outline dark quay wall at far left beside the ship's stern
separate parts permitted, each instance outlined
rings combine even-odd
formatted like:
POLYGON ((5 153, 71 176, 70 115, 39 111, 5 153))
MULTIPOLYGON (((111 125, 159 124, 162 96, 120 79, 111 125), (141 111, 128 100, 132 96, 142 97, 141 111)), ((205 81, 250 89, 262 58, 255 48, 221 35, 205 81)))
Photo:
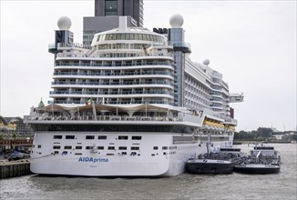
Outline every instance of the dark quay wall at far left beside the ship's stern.
POLYGON ((30 163, 27 160, 0 163, 0 179, 31 174, 30 163))

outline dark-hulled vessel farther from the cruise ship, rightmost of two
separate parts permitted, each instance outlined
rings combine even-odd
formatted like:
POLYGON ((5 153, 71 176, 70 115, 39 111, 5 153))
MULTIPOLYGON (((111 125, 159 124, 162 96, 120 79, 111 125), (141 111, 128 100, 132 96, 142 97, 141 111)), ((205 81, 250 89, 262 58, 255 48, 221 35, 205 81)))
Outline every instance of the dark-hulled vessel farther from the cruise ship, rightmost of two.
POLYGON ((281 169, 281 156, 270 146, 255 146, 250 159, 234 166, 234 172, 245 174, 276 174, 281 169))

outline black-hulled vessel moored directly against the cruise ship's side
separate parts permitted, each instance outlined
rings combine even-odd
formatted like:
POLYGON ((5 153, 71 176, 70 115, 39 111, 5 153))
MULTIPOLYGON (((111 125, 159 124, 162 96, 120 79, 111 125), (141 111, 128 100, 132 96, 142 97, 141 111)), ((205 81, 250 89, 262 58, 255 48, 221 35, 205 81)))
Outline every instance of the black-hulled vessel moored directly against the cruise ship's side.
POLYGON ((210 134, 208 135, 207 155, 199 155, 198 159, 189 159, 187 172, 190 174, 231 174, 233 163, 229 160, 211 159, 210 157, 210 134))

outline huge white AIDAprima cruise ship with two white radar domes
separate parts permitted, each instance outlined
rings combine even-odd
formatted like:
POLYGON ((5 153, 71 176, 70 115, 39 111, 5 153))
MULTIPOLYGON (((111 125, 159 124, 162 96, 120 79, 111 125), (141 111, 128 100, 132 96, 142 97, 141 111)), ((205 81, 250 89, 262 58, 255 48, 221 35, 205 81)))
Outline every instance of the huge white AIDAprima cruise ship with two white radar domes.
POLYGON ((90 46, 73 43, 68 17, 55 55, 50 97, 31 108, 35 130, 31 171, 39 175, 173 176, 189 158, 232 145, 237 121, 222 75, 210 61, 189 59, 183 18, 171 28, 128 27, 97 33, 90 46))

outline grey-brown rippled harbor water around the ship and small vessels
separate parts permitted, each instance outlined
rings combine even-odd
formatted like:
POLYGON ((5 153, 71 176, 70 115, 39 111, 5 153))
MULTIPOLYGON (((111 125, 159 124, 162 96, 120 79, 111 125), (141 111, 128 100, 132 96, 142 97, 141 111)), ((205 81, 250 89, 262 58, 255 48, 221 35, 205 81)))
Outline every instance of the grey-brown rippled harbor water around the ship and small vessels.
MULTIPOLYGON (((270 145, 270 144, 268 144, 270 145)), ((282 156, 273 175, 177 175, 97 178, 25 175, 0 180, 0 199, 292 199, 297 198, 297 145, 271 144, 282 156)), ((249 152, 252 145, 237 145, 249 152)))

